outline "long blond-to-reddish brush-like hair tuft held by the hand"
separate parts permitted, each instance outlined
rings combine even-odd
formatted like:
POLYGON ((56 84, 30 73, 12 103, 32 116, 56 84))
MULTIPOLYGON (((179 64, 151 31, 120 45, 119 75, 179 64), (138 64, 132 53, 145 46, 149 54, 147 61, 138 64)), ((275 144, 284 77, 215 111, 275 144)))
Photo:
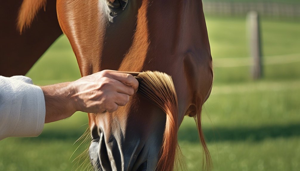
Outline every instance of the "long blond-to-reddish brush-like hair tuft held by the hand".
POLYGON ((173 170, 178 152, 178 102, 172 77, 158 71, 141 72, 138 93, 160 107, 166 114, 166 126, 156 170, 173 170))

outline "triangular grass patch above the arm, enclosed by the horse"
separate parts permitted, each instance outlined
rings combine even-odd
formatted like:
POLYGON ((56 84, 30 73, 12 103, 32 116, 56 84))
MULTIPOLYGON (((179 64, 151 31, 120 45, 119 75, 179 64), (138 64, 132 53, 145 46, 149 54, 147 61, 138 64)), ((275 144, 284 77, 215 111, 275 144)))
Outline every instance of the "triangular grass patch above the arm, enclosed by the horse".
POLYGON ((61 36, 26 76, 32 78, 38 85, 79 79, 79 67, 68 39, 61 36))

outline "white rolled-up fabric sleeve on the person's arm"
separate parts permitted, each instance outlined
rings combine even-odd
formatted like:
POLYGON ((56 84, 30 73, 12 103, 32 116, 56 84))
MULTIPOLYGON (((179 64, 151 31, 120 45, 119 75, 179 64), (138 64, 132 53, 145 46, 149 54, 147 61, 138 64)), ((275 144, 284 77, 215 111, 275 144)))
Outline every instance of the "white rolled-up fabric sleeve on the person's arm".
POLYGON ((0 140, 40 135, 45 114, 44 93, 30 78, 0 76, 0 140))

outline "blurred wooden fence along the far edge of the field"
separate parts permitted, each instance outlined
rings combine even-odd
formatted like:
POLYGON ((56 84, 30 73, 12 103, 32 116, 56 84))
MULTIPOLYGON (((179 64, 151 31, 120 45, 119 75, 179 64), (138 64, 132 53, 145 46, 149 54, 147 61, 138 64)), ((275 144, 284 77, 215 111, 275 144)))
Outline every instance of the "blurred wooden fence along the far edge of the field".
POLYGON ((205 14, 239 16, 249 11, 271 17, 300 17, 300 4, 282 3, 240 3, 240 2, 203 2, 205 14))

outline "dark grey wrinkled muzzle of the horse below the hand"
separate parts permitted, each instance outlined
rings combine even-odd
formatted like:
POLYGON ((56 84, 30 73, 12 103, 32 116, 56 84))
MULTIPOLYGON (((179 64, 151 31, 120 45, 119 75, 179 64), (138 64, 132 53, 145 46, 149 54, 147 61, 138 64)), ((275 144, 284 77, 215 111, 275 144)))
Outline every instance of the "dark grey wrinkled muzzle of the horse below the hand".
POLYGON ((136 141, 131 144, 119 143, 111 136, 105 141, 104 134, 93 140, 89 147, 92 166, 97 171, 146 171, 147 161, 143 144, 136 141))

